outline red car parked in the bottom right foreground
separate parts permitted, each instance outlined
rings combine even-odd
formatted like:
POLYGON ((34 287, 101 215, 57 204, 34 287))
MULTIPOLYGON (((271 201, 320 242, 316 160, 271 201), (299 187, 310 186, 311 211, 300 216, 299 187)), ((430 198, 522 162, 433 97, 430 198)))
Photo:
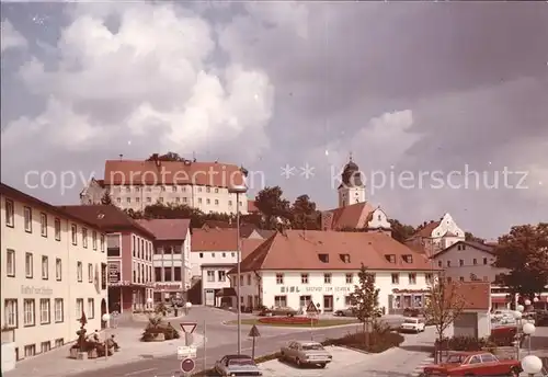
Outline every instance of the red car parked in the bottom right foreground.
POLYGON ((489 352, 450 354, 443 364, 424 367, 424 376, 520 376, 520 361, 500 361, 489 352))

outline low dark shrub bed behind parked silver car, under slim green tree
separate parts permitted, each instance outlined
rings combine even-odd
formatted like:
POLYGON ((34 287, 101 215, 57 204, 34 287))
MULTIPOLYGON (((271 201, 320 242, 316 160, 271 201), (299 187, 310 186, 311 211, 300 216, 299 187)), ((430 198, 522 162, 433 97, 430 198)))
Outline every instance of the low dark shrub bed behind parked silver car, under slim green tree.
POLYGON ((342 345, 363 350, 370 353, 385 352, 388 349, 399 346, 404 338, 383 323, 374 323, 373 331, 368 333, 368 344, 365 343, 366 334, 363 331, 349 333, 343 338, 328 339, 323 345, 342 345))

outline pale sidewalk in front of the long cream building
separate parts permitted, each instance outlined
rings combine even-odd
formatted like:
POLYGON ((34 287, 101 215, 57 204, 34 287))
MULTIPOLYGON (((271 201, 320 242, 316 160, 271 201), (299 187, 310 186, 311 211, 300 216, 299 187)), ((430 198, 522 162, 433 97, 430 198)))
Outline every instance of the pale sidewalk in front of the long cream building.
MULTIPOLYGON (((172 318, 170 318, 172 319, 172 318)), ((44 355, 38 355, 30 359, 21 361, 15 369, 4 373, 4 377, 58 377, 70 376, 88 370, 98 370, 114 365, 128 364, 145 358, 155 358, 176 354, 176 349, 184 345, 184 333, 180 332, 181 338, 165 342, 141 342, 139 338, 144 329, 118 328, 106 331, 106 336, 115 335, 121 351, 114 353, 107 358, 96 358, 89 361, 77 361, 69 358, 69 349, 71 344, 58 350, 50 351, 44 355)), ((204 344, 204 336, 194 333, 194 345, 204 344)), ((101 333, 104 339, 105 332, 101 333)))

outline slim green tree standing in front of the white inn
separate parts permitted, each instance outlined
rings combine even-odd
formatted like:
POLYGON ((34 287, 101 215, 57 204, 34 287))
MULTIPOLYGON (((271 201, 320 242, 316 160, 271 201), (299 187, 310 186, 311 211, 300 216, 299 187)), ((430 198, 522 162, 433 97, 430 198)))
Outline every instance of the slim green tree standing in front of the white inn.
POLYGON ((365 344, 369 346, 368 323, 381 315, 378 304, 380 289, 375 287, 375 274, 367 272, 367 267, 362 263, 357 274, 359 283, 354 287, 351 295, 351 307, 357 319, 364 324, 365 344))

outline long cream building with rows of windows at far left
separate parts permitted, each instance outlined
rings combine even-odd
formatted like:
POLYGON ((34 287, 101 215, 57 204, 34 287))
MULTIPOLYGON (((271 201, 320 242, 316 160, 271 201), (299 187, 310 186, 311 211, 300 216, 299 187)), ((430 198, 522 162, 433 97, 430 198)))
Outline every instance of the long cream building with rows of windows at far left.
POLYGON ((101 329, 105 236, 10 186, 0 190, 2 343, 13 344, 22 359, 76 340, 82 313, 89 331, 101 329))

